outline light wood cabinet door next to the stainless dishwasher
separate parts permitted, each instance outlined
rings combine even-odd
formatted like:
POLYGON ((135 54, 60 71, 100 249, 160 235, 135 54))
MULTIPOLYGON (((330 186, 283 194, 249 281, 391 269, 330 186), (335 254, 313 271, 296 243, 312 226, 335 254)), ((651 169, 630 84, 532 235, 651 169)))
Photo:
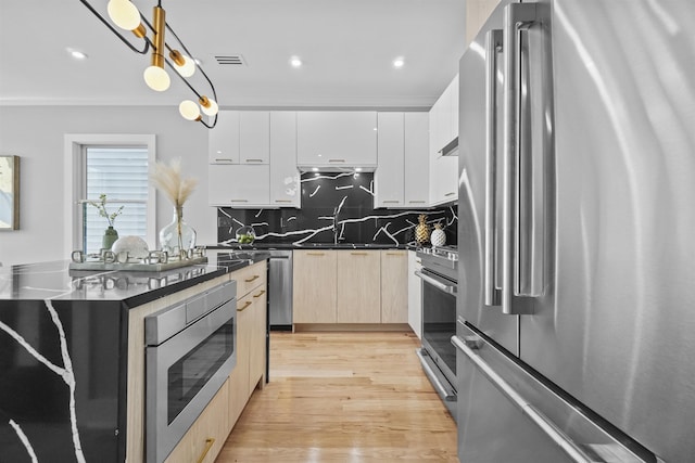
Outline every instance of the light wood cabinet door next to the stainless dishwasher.
POLYGON ((336 252, 299 249, 292 260, 293 322, 336 323, 336 252))

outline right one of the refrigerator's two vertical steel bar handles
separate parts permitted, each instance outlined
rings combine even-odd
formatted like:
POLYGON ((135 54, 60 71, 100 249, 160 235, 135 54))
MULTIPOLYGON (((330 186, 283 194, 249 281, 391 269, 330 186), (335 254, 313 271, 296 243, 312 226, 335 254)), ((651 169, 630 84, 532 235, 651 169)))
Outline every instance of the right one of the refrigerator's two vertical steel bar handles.
POLYGON ((532 304, 513 304, 521 291, 520 198, 520 33, 538 21, 535 3, 510 3, 504 12, 504 154, 502 223, 502 312, 533 313, 532 304))

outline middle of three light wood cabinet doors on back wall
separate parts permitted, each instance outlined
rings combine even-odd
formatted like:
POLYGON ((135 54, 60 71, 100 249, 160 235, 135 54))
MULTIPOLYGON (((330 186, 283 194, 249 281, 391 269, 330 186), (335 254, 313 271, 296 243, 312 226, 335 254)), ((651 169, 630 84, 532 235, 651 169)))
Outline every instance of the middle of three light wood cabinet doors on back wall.
POLYGON ((336 250, 338 323, 381 322, 381 272, 378 250, 336 250))

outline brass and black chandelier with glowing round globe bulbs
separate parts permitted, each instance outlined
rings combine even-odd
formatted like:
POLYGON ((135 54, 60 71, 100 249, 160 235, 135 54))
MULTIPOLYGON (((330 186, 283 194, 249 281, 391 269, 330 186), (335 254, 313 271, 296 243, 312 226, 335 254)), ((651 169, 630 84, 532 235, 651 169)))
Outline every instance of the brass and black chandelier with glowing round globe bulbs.
POLYGON ((218 111, 215 87, 200 64, 192 59, 191 53, 184 42, 181 42, 176 33, 166 23, 166 12, 162 8, 162 0, 157 0, 156 7, 153 8, 152 23, 140 13, 130 0, 109 1, 106 12, 109 13, 111 22, 102 16, 87 0, 79 1, 128 46, 130 50, 139 54, 151 53, 150 66, 147 67, 143 73, 144 82, 148 87, 155 91, 165 91, 169 88, 170 78, 165 69, 166 64, 166 66, 186 83, 193 94, 195 94, 198 101, 182 101, 178 106, 181 116, 188 120, 199 121, 208 129, 215 127, 218 111), (123 34, 112 25, 112 22, 121 29, 130 30, 138 39, 142 40, 141 44, 135 46, 130 40, 126 39, 123 34), (151 38, 148 37, 149 33, 152 35, 151 38), (165 33, 169 34, 176 40, 178 43, 176 47, 170 47, 165 41, 165 33), (207 94, 199 92, 189 81, 189 78, 193 76, 197 70, 210 86, 210 92, 207 94), (206 116, 214 117, 211 124, 203 120, 201 112, 206 116))

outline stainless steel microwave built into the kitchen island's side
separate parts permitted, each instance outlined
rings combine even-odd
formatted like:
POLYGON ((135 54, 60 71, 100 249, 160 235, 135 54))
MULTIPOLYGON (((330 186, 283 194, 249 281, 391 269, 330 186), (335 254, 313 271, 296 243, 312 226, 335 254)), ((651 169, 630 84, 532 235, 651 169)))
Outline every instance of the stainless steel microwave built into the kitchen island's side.
POLYGON ((164 461, 235 368, 236 295, 231 281, 146 318, 148 463, 164 461))

